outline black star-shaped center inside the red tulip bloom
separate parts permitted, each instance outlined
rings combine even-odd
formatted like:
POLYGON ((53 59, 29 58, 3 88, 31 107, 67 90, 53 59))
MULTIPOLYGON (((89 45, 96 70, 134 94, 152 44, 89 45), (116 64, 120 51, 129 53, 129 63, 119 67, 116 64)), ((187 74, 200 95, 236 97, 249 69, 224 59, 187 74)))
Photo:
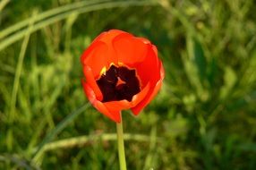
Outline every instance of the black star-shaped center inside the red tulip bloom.
POLYGON ((132 97, 141 91, 135 70, 124 66, 111 65, 107 72, 102 73, 97 84, 103 95, 102 102, 132 101, 132 97))

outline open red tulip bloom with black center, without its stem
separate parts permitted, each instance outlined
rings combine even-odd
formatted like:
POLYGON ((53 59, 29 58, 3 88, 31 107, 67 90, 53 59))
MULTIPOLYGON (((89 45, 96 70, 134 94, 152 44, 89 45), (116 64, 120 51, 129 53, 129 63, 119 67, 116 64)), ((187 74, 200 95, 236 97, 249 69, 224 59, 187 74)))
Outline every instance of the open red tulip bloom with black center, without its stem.
POLYGON ((81 64, 90 103, 116 123, 124 109, 138 115, 165 76, 157 47, 122 30, 101 33, 81 55, 81 64))

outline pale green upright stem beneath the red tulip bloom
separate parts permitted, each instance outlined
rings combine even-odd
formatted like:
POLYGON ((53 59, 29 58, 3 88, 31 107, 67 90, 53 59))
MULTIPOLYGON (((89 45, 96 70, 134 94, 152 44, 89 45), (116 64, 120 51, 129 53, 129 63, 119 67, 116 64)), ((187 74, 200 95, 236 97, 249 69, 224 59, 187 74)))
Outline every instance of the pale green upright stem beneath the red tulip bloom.
POLYGON ((126 170, 126 161, 125 161, 125 153, 124 153, 124 132, 123 132, 122 118, 121 118, 120 123, 116 123, 116 131, 117 131, 117 145, 118 145, 120 170, 126 170))

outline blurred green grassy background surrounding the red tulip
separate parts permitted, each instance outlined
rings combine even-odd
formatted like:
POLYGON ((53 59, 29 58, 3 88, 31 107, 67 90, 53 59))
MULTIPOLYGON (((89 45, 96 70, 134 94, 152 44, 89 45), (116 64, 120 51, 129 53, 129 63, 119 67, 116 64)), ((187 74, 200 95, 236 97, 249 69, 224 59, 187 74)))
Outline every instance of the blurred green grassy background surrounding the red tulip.
POLYGON ((123 113, 128 169, 256 168, 253 0, 2 0, 0 169, 119 169, 115 123, 89 106, 80 56, 100 32, 149 38, 166 70, 123 113))

